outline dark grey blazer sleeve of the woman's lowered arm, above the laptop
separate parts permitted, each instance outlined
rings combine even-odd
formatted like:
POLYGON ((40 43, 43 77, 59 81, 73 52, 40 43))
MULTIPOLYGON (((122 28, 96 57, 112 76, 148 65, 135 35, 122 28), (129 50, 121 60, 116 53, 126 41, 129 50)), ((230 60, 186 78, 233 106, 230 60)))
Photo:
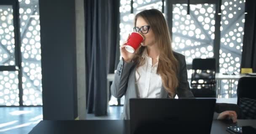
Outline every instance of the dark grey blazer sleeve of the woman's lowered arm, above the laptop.
POLYGON ((189 82, 187 81, 187 64, 185 56, 179 57, 179 86, 176 88, 176 93, 179 98, 193 98, 194 95, 190 90, 189 82))

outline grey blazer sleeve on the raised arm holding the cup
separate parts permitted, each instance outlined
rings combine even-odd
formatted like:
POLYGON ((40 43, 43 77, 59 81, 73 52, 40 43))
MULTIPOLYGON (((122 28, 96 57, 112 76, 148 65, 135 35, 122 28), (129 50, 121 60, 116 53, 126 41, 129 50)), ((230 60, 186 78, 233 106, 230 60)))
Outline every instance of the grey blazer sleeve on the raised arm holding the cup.
POLYGON ((130 70, 134 64, 134 62, 127 63, 123 61, 123 58, 118 63, 114 81, 110 87, 111 94, 115 98, 121 98, 126 93, 130 70))

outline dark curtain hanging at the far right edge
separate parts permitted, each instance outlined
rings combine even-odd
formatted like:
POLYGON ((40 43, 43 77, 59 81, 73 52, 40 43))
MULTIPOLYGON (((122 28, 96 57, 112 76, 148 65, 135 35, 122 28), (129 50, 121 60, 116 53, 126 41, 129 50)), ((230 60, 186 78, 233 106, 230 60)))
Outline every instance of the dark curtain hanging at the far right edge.
POLYGON ((245 2, 245 26, 243 36, 242 68, 253 68, 256 72, 256 1, 245 2))

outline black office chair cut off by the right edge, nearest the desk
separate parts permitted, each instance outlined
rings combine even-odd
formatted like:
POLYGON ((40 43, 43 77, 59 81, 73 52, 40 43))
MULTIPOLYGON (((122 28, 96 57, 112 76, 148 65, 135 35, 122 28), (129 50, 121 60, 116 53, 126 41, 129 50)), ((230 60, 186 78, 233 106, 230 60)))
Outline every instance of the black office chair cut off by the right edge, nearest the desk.
POLYGON ((256 77, 241 77, 237 85, 237 105, 244 119, 256 119, 256 77))

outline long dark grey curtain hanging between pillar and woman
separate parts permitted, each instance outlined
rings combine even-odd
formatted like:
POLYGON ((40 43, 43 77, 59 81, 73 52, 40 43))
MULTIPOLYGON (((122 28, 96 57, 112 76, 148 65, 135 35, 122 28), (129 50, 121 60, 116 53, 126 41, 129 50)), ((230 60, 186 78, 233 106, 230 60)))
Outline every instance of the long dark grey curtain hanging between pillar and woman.
POLYGON ((107 74, 119 61, 119 0, 85 0, 87 112, 107 114, 107 74))

